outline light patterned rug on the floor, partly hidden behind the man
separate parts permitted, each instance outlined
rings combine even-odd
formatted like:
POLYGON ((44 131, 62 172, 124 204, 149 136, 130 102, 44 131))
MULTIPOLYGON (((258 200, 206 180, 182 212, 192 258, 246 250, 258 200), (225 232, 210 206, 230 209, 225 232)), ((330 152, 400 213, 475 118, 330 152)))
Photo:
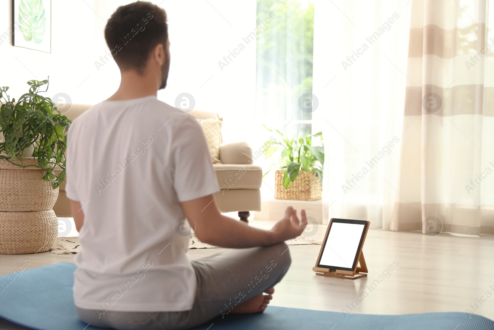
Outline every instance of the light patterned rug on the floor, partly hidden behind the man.
MULTIPOLYGON (((320 241, 307 238, 305 236, 298 236, 293 239, 285 241, 288 245, 309 245, 318 244, 321 245, 320 241)), ((192 235, 189 240, 189 249, 215 249, 219 248, 211 244, 201 242, 197 236, 192 235)), ((79 237, 57 237, 55 244, 51 248, 51 253, 56 254, 72 254, 80 252, 82 249, 79 244, 79 237)))

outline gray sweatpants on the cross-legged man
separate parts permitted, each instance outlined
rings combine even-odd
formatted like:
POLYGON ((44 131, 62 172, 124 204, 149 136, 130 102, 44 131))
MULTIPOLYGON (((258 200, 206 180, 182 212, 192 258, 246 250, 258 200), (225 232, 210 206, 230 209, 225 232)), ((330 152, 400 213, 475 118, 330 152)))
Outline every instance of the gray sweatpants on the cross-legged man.
MULTIPOLYGON (((280 282, 290 267, 288 246, 231 249, 192 261, 197 290, 192 309, 182 312, 96 311, 76 307, 82 321, 117 330, 190 329, 223 315, 280 282), (99 315, 101 317, 99 318, 99 315)), ((164 279, 166 281, 166 279, 164 279)))

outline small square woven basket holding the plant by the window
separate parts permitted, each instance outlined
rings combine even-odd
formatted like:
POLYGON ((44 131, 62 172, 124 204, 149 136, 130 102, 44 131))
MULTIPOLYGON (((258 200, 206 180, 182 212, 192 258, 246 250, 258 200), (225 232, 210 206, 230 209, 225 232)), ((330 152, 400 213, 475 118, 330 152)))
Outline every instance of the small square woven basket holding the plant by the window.
POLYGON ((295 200, 320 200, 323 187, 316 171, 300 171, 297 178, 285 190, 283 186, 283 173, 285 170, 277 170, 275 174, 275 198, 295 200))

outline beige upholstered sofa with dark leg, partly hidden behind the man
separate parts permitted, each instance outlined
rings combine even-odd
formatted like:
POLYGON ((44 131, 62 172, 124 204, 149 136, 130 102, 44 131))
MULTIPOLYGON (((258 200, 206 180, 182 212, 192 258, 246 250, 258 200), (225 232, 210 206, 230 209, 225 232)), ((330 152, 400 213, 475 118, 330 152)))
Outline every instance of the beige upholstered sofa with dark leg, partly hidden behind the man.
MULTIPOLYGON (((72 104, 64 115, 74 120, 90 107, 72 104)), ((218 118, 215 112, 192 110, 190 114, 197 119, 218 118)), ((262 169, 252 165, 252 149, 246 142, 221 144, 219 159, 222 164, 214 164, 213 167, 221 191, 214 194, 214 202, 220 212, 239 212, 240 219, 247 222, 248 211, 261 210, 262 169)), ((58 217, 72 216, 70 201, 65 195, 65 183, 60 186, 53 210, 58 217)))

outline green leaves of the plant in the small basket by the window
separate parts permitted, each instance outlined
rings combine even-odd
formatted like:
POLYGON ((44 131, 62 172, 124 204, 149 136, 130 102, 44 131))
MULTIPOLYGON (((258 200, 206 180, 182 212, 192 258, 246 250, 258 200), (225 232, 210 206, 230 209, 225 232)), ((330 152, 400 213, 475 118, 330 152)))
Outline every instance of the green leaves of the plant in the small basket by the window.
MULTIPOLYGON (((264 125, 264 127, 266 127, 264 125)), ((270 169, 264 174, 266 175, 271 171, 273 166, 278 167, 277 175, 283 173, 283 187, 288 190, 290 185, 295 182, 295 179, 299 177, 301 172, 305 172, 308 175, 316 176, 319 180, 319 185, 323 183, 323 170, 324 170, 324 146, 323 146, 323 133, 319 132, 313 135, 309 135, 307 132, 303 135, 301 132, 292 139, 288 139, 282 132, 270 129, 266 127, 270 132, 276 133, 279 139, 269 140, 264 143, 263 153, 265 158, 269 159, 275 154, 277 150, 281 149, 281 155, 277 164, 272 164, 270 169), (312 145, 312 138, 317 137, 320 139, 321 145, 312 145)), ((314 187, 314 183, 312 183, 314 187)), ((297 188, 297 189, 310 189, 297 188)), ((309 193, 310 194, 310 193, 309 193)), ((320 194, 320 192, 319 192, 320 194)), ((276 198, 276 195, 275 195, 276 198)), ((310 199, 312 200, 312 198, 310 199)))

